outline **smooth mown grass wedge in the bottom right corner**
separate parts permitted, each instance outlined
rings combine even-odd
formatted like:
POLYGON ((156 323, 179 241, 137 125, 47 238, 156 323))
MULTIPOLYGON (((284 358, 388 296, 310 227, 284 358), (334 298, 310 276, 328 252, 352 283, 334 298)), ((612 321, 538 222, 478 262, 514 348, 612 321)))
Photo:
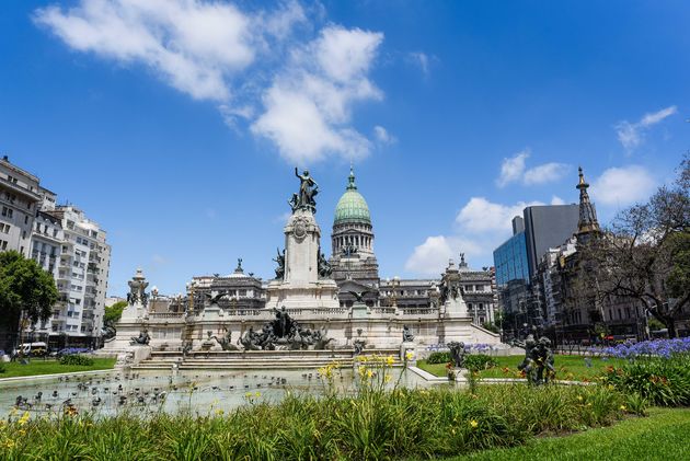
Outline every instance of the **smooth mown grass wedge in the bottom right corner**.
POLYGON ((649 417, 629 418, 611 427, 452 458, 458 461, 683 459, 690 459, 690 408, 651 408, 649 417))

